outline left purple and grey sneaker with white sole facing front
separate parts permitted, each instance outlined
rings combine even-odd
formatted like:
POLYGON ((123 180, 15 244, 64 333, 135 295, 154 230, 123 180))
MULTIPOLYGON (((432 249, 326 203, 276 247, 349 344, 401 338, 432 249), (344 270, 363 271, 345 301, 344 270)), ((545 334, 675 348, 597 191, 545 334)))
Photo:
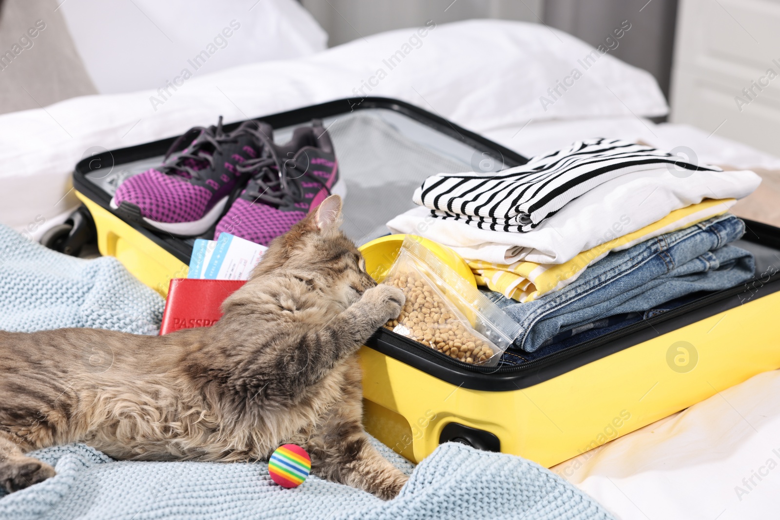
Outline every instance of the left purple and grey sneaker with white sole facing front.
POLYGON ((262 156, 265 135, 271 132, 265 123, 247 121, 224 133, 222 117, 217 126, 190 129, 172 144, 159 168, 122 182, 111 207, 126 221, 147 228, 179 236, 201 235, 246 186, 250 175, 239 166, 262 156), (188 142, 190 146, 177 154, 188 142))

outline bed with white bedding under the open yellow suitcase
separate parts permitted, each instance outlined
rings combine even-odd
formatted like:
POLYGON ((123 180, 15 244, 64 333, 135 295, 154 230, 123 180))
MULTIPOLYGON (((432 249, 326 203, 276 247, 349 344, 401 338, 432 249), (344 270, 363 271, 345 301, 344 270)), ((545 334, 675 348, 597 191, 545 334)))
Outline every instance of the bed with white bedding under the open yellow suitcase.
MULTIPOLYGON (((198 76, 164 104, 151 101, 154 90, 140 90, 0 115, 0 222, 37 239, 64 221, 78 204, 73 165, 97 151, 173 136, 218 115, 231 122, 371 95, 417 104, 526 156, 608 136, 753 168, 764 182, 734 211, 780 225, 780 158, 717 132, 654 124, 668 107, 648 73, 601 55, 573 87, 555 90, 592 52, 536 24, 433 23, 198 76)), ((778 480, 768 460, 780 463, 778 391, 780 374, 761 374, 553 470, 618 518, 770 517, 778 480)))

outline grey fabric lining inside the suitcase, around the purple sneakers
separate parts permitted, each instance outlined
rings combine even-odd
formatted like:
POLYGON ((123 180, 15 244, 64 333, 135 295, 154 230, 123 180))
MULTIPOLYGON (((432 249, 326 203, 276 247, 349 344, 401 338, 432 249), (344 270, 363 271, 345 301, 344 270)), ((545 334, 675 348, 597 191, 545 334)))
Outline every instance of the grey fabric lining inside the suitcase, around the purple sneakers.
MULTIPOLYGON (((342 229, 358 246, 387 235, 385 223, 415 207, 414 189, 429 175, 466 172, 473 169, 475 161, 478 166, 489 166, 484 171, 505 168, 502 160, 486 162, 479 150, 394 111, 364 109, 324 118, 323 123, 347 186, 342 229)), ((294 128, 275 129, 275 142, 285 143, 294 128)), ((86 177, 113 196, 122 182, 161 160, 162 156, 144 158, 122 164, 108 175, 96 170, 86 177)), ((202 238, 211 238, 209 233, 213 235, 213 230, 202 238)))

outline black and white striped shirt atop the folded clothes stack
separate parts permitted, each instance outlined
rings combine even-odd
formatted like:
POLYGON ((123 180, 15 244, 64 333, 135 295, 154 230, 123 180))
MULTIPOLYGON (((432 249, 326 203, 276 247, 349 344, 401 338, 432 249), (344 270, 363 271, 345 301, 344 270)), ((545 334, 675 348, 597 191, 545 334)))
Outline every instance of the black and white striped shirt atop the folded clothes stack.
POLYGON ((502 172, 431 175, 413 199, 437 218, 463 220, 491 231, 528 232, 590 189, 662 164, 721 171, 641 144, 597 138, 532 157, 527 164, 502 172))

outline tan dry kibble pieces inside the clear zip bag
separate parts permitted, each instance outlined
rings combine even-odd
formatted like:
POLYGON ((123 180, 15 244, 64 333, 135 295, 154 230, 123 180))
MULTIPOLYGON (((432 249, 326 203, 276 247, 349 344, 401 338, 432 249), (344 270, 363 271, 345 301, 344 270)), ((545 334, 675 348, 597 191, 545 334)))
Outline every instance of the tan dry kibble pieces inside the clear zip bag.
POLYGON ((392 331, 401 324, 410 338, 464 363, 484 363, 493 356, 488 342, 474 336, 419 274, 396 272, 385 283, 406 295, 401 314, 385 328, 392 331))

